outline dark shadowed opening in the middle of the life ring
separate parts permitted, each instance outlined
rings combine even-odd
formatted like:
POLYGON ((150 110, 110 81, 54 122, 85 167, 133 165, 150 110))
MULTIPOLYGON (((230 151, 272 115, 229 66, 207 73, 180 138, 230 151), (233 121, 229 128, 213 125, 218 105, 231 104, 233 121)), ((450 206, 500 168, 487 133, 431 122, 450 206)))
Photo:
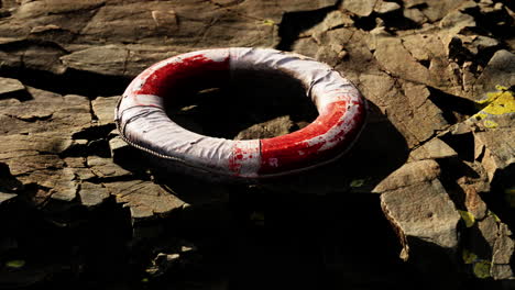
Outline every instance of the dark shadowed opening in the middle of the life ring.
POLYGON ((318 116, 303 83, 286 72, 238 70, 217 76, 216 83, 209 75, 183 81, 164 98, 168 116, 186 130, 228 140, 270 138, 318 116))

